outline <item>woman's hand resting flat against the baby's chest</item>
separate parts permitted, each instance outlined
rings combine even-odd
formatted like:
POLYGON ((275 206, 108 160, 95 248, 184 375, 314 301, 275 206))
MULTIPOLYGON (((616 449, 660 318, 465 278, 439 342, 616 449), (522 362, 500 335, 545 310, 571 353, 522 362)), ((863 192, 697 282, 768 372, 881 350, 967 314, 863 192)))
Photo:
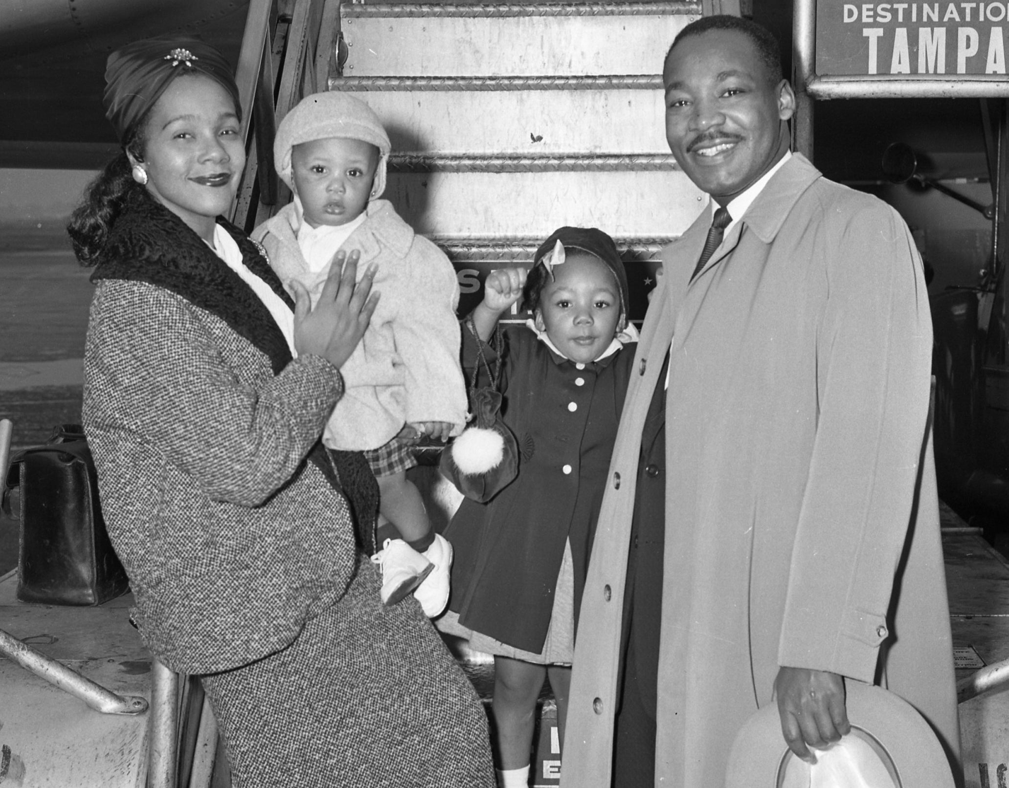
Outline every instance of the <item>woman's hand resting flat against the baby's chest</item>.
POLYGON ((305 286, 290 283, 295 292, 295 349, 299 355, 322 356, 341 367, 361 341, 379 294, 371 293, 377 271, 374 263, 354 284, 360 256, 356 249, 349 257, 342 250, 336 253, 315 309, 305 286))

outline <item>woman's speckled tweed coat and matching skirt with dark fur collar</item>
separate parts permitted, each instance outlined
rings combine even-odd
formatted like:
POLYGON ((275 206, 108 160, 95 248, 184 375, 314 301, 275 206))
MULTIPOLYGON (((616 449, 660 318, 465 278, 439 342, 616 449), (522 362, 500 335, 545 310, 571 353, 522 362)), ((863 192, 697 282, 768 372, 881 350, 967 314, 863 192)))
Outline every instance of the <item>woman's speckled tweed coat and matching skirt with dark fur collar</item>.
POLYGON ((415 600, 381 606, 346 466, 320 459, 339 371, 291 360, 252 291, 145 193, 93 278, 84 421, 106 524, 145 644, 212 674, 235 785, 491 785, 475 692, 415 600))

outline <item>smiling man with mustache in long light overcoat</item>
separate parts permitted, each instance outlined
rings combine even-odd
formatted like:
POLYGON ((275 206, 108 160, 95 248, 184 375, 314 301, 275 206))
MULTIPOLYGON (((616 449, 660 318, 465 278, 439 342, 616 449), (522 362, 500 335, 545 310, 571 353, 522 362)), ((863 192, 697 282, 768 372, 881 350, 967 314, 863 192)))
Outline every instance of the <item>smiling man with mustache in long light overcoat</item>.
POLYGON ((846 680, 907 699, 955 762, 913 239, 789 152, 795 99, 764 28, 688 25, 663 82, 670 148, 712 205, 665 249, 642 331, 562 785, 609 784, 614 717, 615 785, 721 785, 736 733, 775 699, 812 761, 850 729, 846 680))

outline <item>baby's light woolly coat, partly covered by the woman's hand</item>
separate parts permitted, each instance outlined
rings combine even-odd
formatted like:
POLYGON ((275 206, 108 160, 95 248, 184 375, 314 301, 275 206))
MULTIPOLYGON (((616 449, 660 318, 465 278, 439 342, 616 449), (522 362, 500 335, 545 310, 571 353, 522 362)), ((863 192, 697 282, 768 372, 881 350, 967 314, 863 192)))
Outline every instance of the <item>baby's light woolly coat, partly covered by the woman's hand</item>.
MULTIPOLYGON (((305 285, 313 304, 328 270, 309 269, 298 245, 294 203, 252 232, 281 279, 305 285)), ((416 422, 466 423, 466 386, 459 368, 459 283, 448 257, 417 235, 387 200, 372 200, 367 218, 340 247, 361 253, 358 274, 377 263, 381 294, 368 330, 341 372, 344 396, 326 425, 327 446, 377 449, 416 422)), ((335 253, 336 250, 334 250, 335 253)))

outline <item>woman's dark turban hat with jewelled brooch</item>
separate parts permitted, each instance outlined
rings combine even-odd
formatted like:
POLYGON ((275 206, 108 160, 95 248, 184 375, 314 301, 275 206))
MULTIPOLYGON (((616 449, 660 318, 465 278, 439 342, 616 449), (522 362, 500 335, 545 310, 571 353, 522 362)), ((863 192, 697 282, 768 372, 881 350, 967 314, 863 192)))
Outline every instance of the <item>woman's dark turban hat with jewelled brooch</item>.
POLYGON ((121 46, 105 67, 105 116, 123 141, 174 80, 189 73, 216 80, 234 99, 241 115, 238 86, 231 66, 213 46, 199 38, 160 35, 121 46))

